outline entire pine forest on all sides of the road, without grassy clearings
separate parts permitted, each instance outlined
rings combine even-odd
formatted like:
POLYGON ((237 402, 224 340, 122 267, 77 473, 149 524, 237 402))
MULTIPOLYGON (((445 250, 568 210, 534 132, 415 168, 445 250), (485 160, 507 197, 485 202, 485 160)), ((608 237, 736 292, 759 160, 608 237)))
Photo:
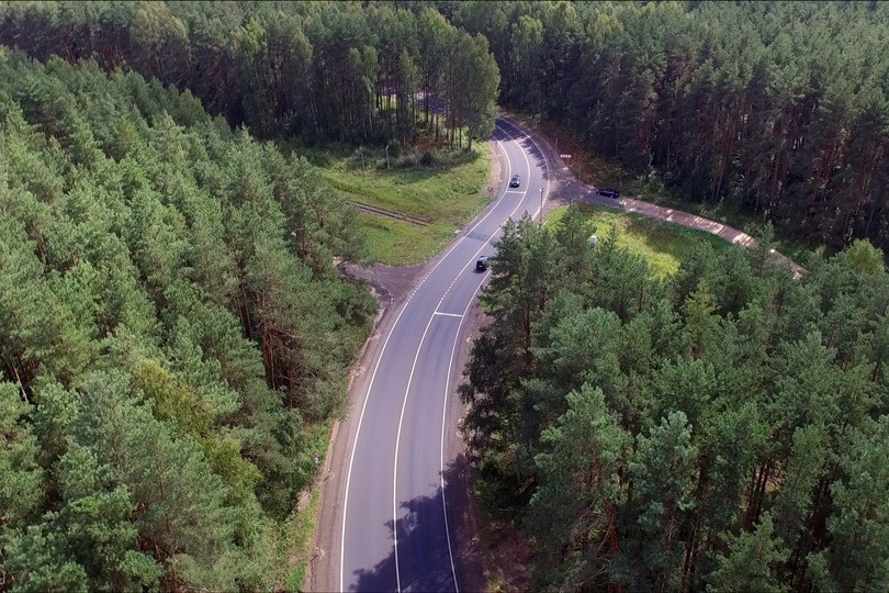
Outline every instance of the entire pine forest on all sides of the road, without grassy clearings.
POLYGON ((889 590, 889 3, 405 0, 0 2, 0 591, 299 590, 378 313, 301 150, 500 109, 759 228, 505 225, 460 396, 530 589, 889 590))

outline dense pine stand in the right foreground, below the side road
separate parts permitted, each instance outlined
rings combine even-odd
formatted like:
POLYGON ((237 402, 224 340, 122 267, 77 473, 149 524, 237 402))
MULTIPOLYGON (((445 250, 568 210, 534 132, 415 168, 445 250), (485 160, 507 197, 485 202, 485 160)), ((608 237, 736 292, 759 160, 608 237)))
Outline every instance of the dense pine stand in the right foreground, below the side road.
MULTIPOLYGON (((659 280, 578 214, 508 224, 461 388, 479 491, 534 590, 889 585, 889 273, 769 242, 659 280)), ((864 264, 863 264, 864 262, 864 264)))

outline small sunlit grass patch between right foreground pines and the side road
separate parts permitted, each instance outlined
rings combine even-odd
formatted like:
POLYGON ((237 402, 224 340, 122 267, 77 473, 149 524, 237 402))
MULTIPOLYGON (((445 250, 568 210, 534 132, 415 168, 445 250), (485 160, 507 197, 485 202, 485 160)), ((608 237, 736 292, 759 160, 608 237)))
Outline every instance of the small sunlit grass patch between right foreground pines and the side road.
MULTIPOLYGON (((716 249, 731 248, 728 243, 709 233, 652 221, 618 210, 586 204, 581 204, 579 208, 581 212, 586 214, 587 221, 596 227, 596 235, 600 239, 612 228, 617 230, 618 245, 642 255, 661 278, 676 273, 679 262, 701 242, 710 243, 716 249)), ((547 224, 555 224, 566 210, 566 206, 555 210, 547 219, 547 224)))

